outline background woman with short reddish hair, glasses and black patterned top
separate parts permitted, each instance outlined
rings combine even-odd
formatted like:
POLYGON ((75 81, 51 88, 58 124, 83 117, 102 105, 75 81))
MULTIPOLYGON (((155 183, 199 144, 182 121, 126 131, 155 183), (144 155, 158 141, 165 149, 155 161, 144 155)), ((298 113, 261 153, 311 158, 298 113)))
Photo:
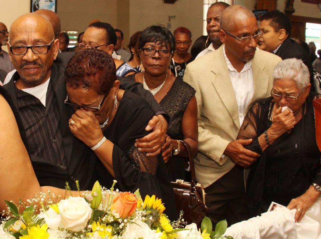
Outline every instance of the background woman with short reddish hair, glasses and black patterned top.
POLYGON ((186 65, 194 60, 188 53, 192 44, 192 33, 185 27, 179 27, 174 31, 175 53, 170 62, 170 71, 177 77, 183 79, 186 65))

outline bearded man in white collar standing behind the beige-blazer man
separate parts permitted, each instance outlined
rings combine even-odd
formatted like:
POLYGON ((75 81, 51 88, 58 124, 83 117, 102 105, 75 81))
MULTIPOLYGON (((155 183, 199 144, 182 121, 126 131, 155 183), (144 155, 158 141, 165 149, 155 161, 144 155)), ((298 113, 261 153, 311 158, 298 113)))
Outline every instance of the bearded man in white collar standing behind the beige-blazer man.
MULTIPOLYGON (((224 2, 217 2, 213 3, 207 10, 206 14, 206 31, 208 34, 207 41, 210 41, 211 44, 209 47, 205 48, 203 51, 201 51, 195 59, 198 57, 205 55, 207 53, 210 53, 212 51, 215 51, 219 47, 221 47, 222 43, 219 37, 219 31, 220 31, 220 17, 221 13, 225 8, 230 6, 227 3, 224 2)), ((206 42, 207 42, 206 41, 206 42)))

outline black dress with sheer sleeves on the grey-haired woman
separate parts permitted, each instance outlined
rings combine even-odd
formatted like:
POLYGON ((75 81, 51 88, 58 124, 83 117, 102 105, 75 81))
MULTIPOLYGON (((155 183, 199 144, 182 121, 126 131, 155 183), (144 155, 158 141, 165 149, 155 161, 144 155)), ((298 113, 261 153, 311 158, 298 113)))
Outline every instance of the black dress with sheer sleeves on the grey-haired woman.
MULTIPOLYGON (((290 133, 282 134, 251 166, 247 179, 247 208, 254 217, 266 212, 271 202, 287 206, 315 182, 320 185, 320 151, 316 142, 313 98, 310 92, 302 107, 302 119, 290 133), (306 110, 306 111, 305 111, 306 110), (305 112, 305 114, 304 114, 305 112)), ((257 138, 272 121, 273 98, 258 100, 247 113, 238 139, 257 138)), ((247 147, 256 151, 253 143, 247 147)))

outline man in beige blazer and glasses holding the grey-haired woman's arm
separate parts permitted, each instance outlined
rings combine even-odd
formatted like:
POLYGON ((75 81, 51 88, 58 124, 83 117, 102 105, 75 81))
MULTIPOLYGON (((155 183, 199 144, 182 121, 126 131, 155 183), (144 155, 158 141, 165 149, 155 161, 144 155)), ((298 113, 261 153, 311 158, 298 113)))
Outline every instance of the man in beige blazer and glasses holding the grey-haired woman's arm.
POLYGON ((196 179, 205 187, 211 220, 216 223, 226 218, 231 225, 248 218, 243 167, 259 156, 243 146, 252 140, 236 140, 240 121, 255 100, 270 96, 273 69, 281 58, 256 49, 261 34, 255 16, 247 8, 239 5, 226 8, 220 25, 223 45, 188 64, 184 81, 196 90, 199 133, 196 179), (238 78, 239 85, 250 84, 236 87, 233 82, 238 78), (250 96, 247 104, 243 103, 243 112, 239 112, 243 95, 236 97, 238 91, 250 96))

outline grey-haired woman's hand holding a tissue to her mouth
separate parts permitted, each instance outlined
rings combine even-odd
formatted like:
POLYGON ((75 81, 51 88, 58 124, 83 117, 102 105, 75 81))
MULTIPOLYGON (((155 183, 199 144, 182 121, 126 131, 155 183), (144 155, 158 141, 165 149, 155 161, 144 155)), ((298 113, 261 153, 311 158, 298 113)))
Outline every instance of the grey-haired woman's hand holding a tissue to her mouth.
POLYGON ((278 136, 281 136, 283 133, 291 130, 296 124, 295 117, 289 109, 286 109, 283 112, 281 112, 281 110, 282 107, 276 109, 272 125, 270 127, 270 132, 277 134, 278 136))

